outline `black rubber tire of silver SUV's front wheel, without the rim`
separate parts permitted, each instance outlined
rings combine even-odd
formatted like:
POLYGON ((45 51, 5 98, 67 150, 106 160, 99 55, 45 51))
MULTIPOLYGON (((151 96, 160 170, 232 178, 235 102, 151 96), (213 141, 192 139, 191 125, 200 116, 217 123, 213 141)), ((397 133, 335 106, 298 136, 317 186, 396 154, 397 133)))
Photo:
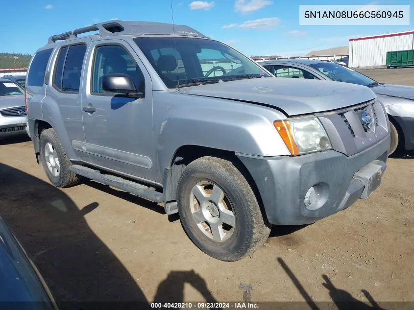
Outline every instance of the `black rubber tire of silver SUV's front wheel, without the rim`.
POLYGON ((190 163, 178 181, 178 213, 189 238, 204 253, 221 261, 234 262, 263 245, 271 225, 264 219, 256 196, 242 173, 229 161, 202 157, 190 163), (192 216, 190 197, 199 182, 218 185, 235 217, 233 233, 225 241, 207 237, 192 216))

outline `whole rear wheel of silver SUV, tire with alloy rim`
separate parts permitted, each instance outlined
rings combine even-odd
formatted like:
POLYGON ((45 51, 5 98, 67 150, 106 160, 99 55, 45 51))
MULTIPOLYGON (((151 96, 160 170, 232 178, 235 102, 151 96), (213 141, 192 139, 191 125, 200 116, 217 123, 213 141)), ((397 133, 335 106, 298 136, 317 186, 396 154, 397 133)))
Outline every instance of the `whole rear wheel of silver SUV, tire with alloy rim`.
POLYGON ((79 183, 80 176, 69 170, 72 163, 52 128, 40 134, 40 160, 54 186, 65 188, 79 183))

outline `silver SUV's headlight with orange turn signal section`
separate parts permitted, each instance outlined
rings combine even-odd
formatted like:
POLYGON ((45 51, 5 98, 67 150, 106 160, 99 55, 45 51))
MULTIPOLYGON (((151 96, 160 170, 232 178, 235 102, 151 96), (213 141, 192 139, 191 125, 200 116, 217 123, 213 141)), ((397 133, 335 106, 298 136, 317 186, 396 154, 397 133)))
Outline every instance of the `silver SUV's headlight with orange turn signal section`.
POLYGON ((276 120, 273 124, 292 155, 332 148, 328 135, 317 118, 276 120))

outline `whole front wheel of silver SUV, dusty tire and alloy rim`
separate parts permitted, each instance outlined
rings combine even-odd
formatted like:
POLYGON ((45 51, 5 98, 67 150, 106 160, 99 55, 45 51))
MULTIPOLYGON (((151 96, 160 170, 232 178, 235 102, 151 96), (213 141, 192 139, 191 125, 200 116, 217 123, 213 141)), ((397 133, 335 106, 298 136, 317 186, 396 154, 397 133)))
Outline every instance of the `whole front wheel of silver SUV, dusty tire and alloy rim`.
POLYGON ((182 225, 204 253, 226 262, 253 253, 269 236, 254 192, 229 161, 202 157, 190 163, 178 182, 182 225))

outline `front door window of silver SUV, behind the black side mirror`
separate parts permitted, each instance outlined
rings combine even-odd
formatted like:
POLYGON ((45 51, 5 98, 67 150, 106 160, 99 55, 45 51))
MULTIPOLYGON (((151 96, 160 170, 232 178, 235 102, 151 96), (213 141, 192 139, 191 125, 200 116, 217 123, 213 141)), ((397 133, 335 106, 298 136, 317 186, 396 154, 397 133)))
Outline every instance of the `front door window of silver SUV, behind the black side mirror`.
POLYGON ((145 80, 140 68, 128 52, 118 45, 97 47, 92 74, 92 92, 107 93, 102 90, 102 76, 108 73, 128 74, 138 92, 145 92, 145 80))

